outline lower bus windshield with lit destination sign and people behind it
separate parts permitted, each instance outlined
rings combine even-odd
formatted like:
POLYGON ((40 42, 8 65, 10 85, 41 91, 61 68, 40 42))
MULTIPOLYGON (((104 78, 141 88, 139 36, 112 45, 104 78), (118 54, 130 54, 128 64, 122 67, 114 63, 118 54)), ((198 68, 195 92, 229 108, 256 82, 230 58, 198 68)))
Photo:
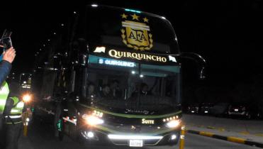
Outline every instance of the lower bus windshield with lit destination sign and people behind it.
POLYGON ((111 109, 162 110, 177 106, 177 65, 148 65, 89 55, 82 103, 111 109))

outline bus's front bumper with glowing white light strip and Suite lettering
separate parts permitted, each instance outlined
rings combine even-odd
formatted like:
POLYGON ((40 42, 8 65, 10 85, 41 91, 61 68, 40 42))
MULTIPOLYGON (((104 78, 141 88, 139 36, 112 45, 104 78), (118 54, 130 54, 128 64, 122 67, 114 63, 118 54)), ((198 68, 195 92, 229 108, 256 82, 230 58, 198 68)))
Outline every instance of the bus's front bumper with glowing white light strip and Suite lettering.
POLYGON ((181 119, 176 114, 168 115, 160 118, 141 118, 129 114, 128 116, 103 114, 104 123, 94 126, 89 126, 84 118, 79 117, 77 129, 80 130, 83 138, 95 143, 99 141, 99 143, 133 146, 131 144, 138 140, 142 146, 174 145, 179 140, 181 119), (174 128, 168 128, 168 121, 175 119, 179 121, 179 125, 172 123, 169 126, 174 128))

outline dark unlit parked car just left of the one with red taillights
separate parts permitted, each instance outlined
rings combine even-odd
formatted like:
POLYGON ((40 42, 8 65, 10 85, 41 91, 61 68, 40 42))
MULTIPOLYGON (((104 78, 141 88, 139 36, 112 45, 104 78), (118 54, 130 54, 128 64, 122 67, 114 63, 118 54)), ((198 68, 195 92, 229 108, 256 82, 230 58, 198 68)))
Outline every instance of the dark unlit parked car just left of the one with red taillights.
POLYGON ((210 112, 213 116, 227 116, 229 103, 218 103, 211 107, 210 112))

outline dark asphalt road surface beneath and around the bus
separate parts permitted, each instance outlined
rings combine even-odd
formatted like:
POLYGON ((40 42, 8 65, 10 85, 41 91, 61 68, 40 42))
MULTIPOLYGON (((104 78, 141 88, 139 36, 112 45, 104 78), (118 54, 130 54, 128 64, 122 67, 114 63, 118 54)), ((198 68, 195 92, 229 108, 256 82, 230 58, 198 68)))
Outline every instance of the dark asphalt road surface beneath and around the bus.
MULTIPOLYGON (((19 149, 112 149, 121 148, 126 149, 124 146, 112 146, 112 145, 89 145, 78 143, 72 138, 65 136, 63 141, 58 140, 53 136, 52 128, 50 124, 44 121, 36 121, 28 128, 28 136, 21 136, 19 140, 19 149)), ((225 149, 225 148, 238 148, 238 149, 257 149, 249 145, 242 145, 238 143, 231 143, 225 140, 218 140, 215 138, 208 138, 205 136, 198 136, 194 134, 186 134, 185 137, 185 149, 225 149)), ((178 145, 174 146, 155 146, 145 147, 152 149, 172 149, 178 148, 178 145)), ((141 148, 142 149, 142 148, 141 148)))

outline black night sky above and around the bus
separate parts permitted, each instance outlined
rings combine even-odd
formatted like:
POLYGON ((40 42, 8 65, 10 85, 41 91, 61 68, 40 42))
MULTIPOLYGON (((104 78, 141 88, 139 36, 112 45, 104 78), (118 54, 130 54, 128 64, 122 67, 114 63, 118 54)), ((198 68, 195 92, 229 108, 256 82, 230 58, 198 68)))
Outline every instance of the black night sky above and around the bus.
MULTIPOLYGON (((165 16, 174 26, 181 50, 206 58, 206 82, 244 82, 247 77, 263 73, 262 0, 96 2, 165 16)), ((18 54, 13 71, 30 71, 33 55, 72 8, 90 3, 21 0, 1 4, 0 31, 4 28, 13 31, 13 45, 18 54)))

